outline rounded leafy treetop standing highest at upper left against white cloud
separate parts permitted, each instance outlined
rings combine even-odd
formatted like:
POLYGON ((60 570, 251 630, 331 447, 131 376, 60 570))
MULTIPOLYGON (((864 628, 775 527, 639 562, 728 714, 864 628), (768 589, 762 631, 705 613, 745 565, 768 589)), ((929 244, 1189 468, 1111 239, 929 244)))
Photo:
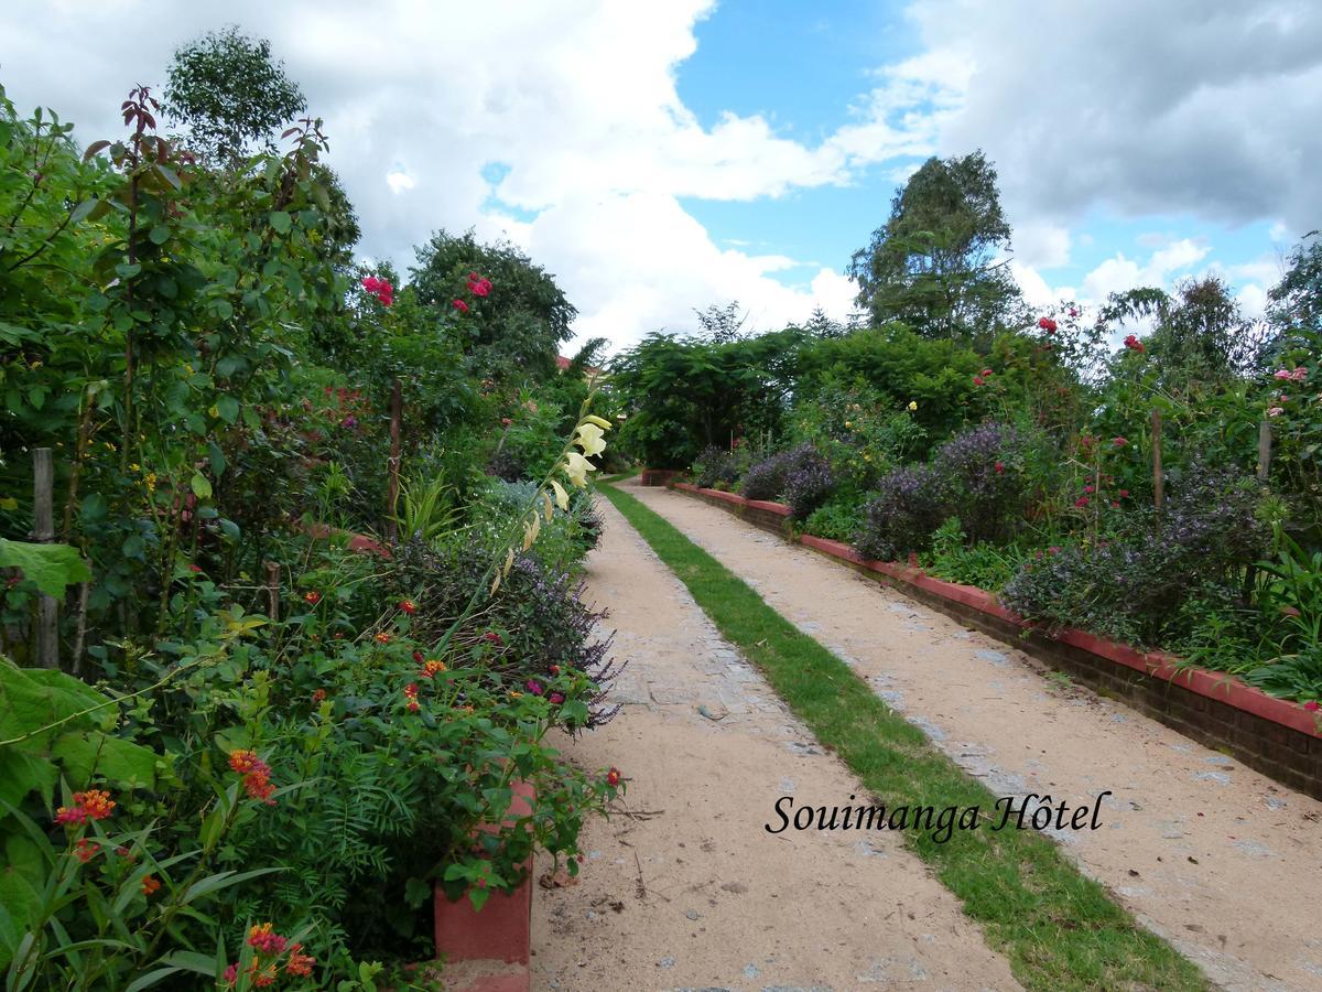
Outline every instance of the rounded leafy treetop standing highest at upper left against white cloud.
POLYGON ((234 25, 175 52, 165 111, 182 124, 192 151, 227 165, 254 147, 271 148, 284 124, 305 114, 299 85, 271 58, 271 42, 234 25))

